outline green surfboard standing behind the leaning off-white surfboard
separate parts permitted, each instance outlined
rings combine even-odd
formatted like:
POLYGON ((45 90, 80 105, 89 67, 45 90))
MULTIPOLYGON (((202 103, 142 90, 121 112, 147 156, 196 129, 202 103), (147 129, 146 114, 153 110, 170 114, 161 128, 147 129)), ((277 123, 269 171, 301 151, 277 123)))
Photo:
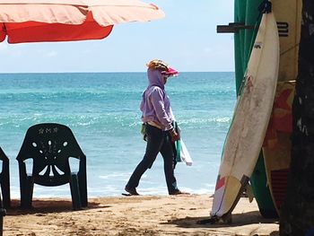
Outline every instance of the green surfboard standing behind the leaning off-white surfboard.
MULTIPOLYGON (((242 22, 250 29, 240 30, 234 33, 234 60, 235 60, 235 81, 236 92, 240 94, 245 71, 249 62, 251 48, 257 36, 258 25, 261 17, 258 6, 263 0, 235 0, 234 1, 234 22, 242 22)), ((264 156, 260 151, 257 165, 249 179, 254 196, 257 201, 260 214, 266 218, 275 218, 277 213, 273 198, 267 185, 264 156)))

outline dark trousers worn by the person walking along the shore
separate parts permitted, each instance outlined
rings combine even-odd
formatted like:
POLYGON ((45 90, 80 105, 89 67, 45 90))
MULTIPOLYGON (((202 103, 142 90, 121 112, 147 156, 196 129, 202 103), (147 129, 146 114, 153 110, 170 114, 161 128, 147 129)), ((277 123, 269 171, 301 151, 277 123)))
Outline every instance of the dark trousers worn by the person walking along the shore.
POLYGON ((169 131, 146 125, 147 145, 143 160, 136 166, 128 180, 128 188, 136 188, 144 172, 151 168, 157 154, 163 158, 163 169, 169 194, 178 191, 177 180, 174 177, 173 149, 169 131))

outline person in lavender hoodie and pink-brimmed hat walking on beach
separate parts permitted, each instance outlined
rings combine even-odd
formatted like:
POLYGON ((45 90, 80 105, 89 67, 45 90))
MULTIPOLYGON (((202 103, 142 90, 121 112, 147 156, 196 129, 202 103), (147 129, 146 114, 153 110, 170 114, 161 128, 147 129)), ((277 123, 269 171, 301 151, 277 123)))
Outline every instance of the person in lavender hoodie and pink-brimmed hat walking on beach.
POLYGON ((179 139, 179 134, 172 127, 170 99, 165 91, 167 79, 179 73, 161 60, 153 60, 147 66, 149 85, 143 93, 140 106, 145 127, 144 139, 147 141, 146 151, 143 160, 128 180, 125 190, 130 195, 138 195, 136 188, 142 175, 152 167, 157 154, 161 153, 168 193, 182 194, 174 177, 173 163, 173 143, 179 139))

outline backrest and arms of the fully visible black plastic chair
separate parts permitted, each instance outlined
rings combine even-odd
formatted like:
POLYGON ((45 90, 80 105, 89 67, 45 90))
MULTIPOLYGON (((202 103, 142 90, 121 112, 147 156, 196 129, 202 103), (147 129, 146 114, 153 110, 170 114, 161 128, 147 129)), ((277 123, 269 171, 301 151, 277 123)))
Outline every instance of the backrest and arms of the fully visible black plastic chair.
POLYGON ((43 123, 27 130, 17 156, 22 174, 26 174, 25 160, 32 159, 34 182, 43 186, 59 186, 69 182, 69 158, 80 160, 85 168, 86 157, 69 127, 56 123, 43 123))

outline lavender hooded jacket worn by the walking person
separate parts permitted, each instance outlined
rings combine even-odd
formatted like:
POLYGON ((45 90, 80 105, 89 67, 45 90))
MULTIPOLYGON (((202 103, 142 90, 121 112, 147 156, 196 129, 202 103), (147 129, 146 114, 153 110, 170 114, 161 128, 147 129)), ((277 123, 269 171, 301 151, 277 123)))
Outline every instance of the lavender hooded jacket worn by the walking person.
POLYGON ((149 85, 143 93, 140 109, 142 121, 154 121, 161 126, 162 130, 172 128, 174 119, 170 108, 170 100, 164 90, 162 74, 158 70, 147 70, 149 85))

